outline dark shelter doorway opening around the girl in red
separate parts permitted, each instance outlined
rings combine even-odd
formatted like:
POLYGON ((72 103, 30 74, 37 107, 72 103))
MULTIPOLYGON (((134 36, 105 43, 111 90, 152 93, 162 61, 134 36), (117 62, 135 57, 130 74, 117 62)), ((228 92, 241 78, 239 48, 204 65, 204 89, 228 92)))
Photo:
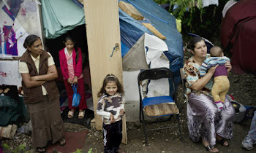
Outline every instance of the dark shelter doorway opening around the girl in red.
POLYGON ((67 31, 66 34, 62 34, 61 36, 57 37, 56 39, 45 39, 45 50, 50 52, 53 56, 53 60, 56 64, 56 68, 58 70, 58 79, 56 80, 56 84, 60 91, 60 102, 61 104, 66 101, 65 98, 66 90, 64 86, 63 76, 61 74, 61 68, 59 63, 59 50, 65 47, 64 45, 64 38, 66 36, 71 36, 75 39, 75 45, 79 47, 82 51, 82 59, 83 59, 83 80, 86 86, 86 103, 88 109, 94 110, 92 95, 91 95, 91 76, 90 76, 90 68, 89 68, 89 53, 87 47, 87 39, 86 39, 86 25, 83 24, 81 26, 77 26, 76 28, 67 31), (61 100, 61 96, 65 100, 61 100))

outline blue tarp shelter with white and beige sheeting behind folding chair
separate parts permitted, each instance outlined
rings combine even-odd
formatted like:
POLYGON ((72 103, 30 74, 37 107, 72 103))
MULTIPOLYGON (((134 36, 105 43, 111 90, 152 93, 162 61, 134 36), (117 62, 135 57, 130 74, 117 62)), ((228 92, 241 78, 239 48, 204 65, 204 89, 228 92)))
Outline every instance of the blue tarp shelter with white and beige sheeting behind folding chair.
MULTIPOLYGON (((176 85, 180 82, 179 68, 183 66, 182 36, 176 29, 176 19, 162 7, 151 0, 121 0, 132 4, 146 20, 135 20, 126 12, 119 9, 119 23, 121 31, 121 52, 123 62, 123 82, 126 99, 127 121, 138 121, 139 94, 137 76, 140 69, 152 66, 169 67, 175 74, 176 85), (157 39, 151 31, 142 25, 151 23, 166 39, 157 39), (147 42, 148 41, 148 42, 147 42), (154 44, 155 46, 153 46, 154 44), (148 52, 153 54, 149 55, 148 52), (162 55, 164 54, 164 55, 162 55), (149 57, 148 57, 149 56, 149 57), (154 57, 154 59, 152 58, 154 57), (167 59, 165 59, 167 58, 167 59), (148 62, 151 59, 151 62, 148 62)), ((143 87, 148 90, 147 96, 152 94, 165 95, 169 91, 167 80, 150 82, 143 87), (163 85, 163 86, 159 86, 163 85), (154 86, 154 89, 151 87, 154 86), (162 87, 162 88, 161 88, 162 87), (167 89, 167 90, 166 90, 167 89)))

